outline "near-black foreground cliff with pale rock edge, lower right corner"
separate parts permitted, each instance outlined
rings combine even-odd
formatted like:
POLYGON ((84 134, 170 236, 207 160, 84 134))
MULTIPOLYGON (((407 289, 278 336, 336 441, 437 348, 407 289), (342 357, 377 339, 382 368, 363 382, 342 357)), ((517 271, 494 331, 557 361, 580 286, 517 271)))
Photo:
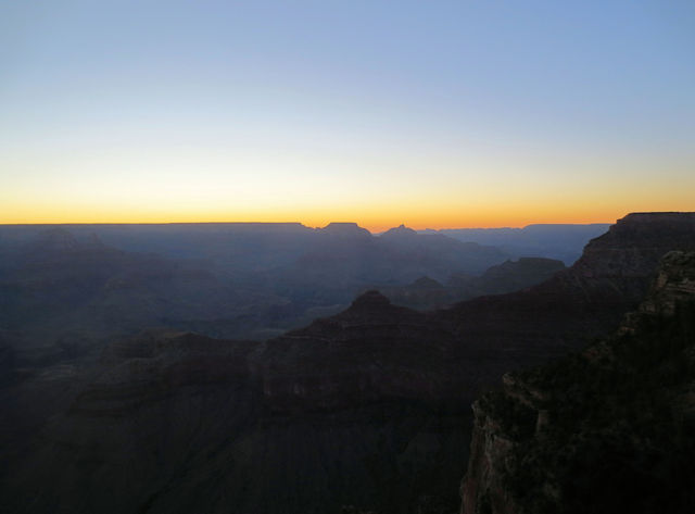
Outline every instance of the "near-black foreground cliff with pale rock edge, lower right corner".
POLYGON ((695 253, 615 336, 503 381, 473 406, 464 514, 693 512, 695 253))

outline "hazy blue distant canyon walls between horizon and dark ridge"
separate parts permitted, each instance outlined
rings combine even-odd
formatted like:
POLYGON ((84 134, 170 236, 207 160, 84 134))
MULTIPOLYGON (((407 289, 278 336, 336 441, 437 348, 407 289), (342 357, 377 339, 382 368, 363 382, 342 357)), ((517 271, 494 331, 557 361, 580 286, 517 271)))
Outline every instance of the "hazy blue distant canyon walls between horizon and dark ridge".
POLYGON ((506 256, 444 236, 396 239, 350 223, 0 226, 2 346, 26 367, 147 327, 267 339, 374 284, 482 272, 506 256))

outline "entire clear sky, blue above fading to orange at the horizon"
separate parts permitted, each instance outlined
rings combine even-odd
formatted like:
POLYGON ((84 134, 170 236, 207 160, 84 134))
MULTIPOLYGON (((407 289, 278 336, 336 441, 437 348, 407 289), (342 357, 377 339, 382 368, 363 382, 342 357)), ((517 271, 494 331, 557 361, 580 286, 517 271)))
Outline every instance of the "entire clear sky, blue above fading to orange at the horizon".
POLYGON ((695 211, 695 2, 0 0, 0 223, 695 211))

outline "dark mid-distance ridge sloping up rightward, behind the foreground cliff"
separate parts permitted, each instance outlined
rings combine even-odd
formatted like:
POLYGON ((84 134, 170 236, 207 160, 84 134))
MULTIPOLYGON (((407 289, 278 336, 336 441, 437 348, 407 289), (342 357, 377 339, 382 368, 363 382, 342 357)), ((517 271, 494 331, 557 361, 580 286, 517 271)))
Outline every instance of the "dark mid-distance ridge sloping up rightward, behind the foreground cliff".
POLYGON ((372 291, 263 343, 151 333, 47 369, 0 389, 0 511, 454 512, 481 389, 615 329, 683 246, 695 216, 631 215, 523 292, 372 291))

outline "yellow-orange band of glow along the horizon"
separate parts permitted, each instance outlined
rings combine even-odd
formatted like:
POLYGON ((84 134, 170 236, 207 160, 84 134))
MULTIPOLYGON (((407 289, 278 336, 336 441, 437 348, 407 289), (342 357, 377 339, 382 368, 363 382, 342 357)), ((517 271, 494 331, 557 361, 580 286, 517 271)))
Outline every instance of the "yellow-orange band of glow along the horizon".
POLYGON ((34 202, 7 198, 0 202, 0 224, 165 224, 165 223, 302 223, 307 227, 323 227, 331 222, 354 222, 380 233, 404 224, 414 229, 425 228, 495 228, 523 227, 531 224, 591 224, 615 223, 630 212, 695 211, 695 204, 685 189, 681 195, 634 196, 618 199, 607 191, 582 202, 568 195, 555 198, 497 198, 494 203, 483 198, 431 199, 391 198, 382 201, 344 200, 343 203, 320 199, 314 204, 295 202, 254 205, 237 203, 220 206, 201 201, 179 199, 144 202, 141 199, 124 201, 72 201, 41 198, 34 202), (636 197, 636 198, 635 198, 636 197), (177 201, 178 200, 178 201, 177 201))

